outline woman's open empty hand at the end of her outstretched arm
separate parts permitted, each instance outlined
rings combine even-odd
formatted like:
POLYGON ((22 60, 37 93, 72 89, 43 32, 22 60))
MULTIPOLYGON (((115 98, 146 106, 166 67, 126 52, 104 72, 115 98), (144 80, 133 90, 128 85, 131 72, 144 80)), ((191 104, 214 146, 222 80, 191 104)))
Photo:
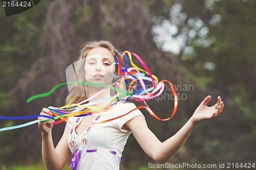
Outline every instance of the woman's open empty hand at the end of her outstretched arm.
POLYGON ((191 116, 191 122, 194 125, 199 124, 202 120, 219 116, 223 111, 224 103, 221 101, 220 96, 218 96, 218 102, 214 106, 208 107, 206 105, 209 103, 210 99, 211 96, 208 95, 191 116))

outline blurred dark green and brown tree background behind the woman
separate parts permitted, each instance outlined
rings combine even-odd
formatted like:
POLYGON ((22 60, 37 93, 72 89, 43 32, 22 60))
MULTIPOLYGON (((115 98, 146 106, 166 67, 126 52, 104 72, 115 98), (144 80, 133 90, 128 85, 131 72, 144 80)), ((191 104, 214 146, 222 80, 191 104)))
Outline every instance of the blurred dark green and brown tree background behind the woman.
MULTIPOLYGON (((0 8, 0 21, 0 115, 33 115, 43 107, 63 106, 67 87, 26 100, 66 82, 65 69, 82 44, 106 39, 121 51, 137 53, 160 80, 178 87, 179 107, 171 120, 161 122, 142 110, 161 141, 185 124, 206 95, 212 96, 210 105, 222 96, 224 113, 200 124, 170 163, 255 162, 255 1, 45 0, 10 17, 0 8)), ((148 101, 160 117, 171 114, 169 95, 148 101)), ((25 122, 0 120, 0 128, 25 122)), ((54 126, 55 144, 64 127, 54 126)), ((0 133, 0 168, 38 160, 37 125, 0 133)), ((149 162, 154 161, 131 135, 121 168, 143 169, 149 162)))

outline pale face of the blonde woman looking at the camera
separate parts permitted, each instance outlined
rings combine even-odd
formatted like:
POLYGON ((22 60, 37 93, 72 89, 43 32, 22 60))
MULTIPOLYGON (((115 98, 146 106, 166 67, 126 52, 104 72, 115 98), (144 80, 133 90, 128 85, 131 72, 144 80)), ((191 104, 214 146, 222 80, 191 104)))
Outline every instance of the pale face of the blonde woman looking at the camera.
POLYGON ((84 70, 86 81, 97 84, 111 84, 115 67, 113 54, 106 48, 97 47, 89 51, 84 70))

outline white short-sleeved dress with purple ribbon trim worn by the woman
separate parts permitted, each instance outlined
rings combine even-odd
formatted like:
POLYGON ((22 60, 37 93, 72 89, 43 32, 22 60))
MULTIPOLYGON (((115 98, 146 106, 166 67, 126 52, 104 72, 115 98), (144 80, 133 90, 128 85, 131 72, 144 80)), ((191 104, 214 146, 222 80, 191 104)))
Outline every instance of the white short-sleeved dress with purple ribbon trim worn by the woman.
POLYGON ((140 110, 136 109, 129 114, 121 116, 136 106, 133 103, 118 102, 112 109, 94 113, 91 125, 84 132, 77 135, 75 128, 83 117, 71 117, 69 122, 68 145, 73 154, 80 149, 80 156, 77 169, 119 169, 122 151, 131 131, 121 129, 130 119, 136 116, 143 116, 140 110), (110 122, 100 123, 104 120, 115 118, 110 122))

